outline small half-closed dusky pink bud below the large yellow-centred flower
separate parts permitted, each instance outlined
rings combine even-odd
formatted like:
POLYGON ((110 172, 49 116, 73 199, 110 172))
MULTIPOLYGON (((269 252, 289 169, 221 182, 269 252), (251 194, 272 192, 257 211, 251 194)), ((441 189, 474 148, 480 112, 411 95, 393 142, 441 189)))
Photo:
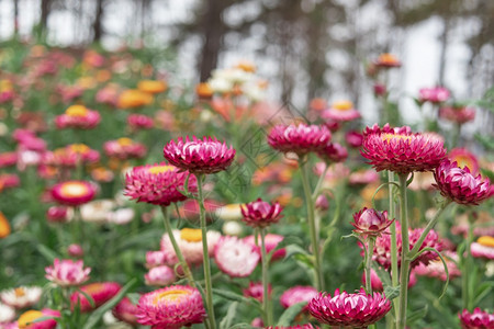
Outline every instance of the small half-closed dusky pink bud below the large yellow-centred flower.
POLYGON ((350 223, 356 229, 356 234, 367 237, 379 237, 384 230, 390 227, 394 219, 388 218, 388 212, 378 212, 375 209, 368 209, 363 207, 358 213, 353 214, 353 222, 350 223))

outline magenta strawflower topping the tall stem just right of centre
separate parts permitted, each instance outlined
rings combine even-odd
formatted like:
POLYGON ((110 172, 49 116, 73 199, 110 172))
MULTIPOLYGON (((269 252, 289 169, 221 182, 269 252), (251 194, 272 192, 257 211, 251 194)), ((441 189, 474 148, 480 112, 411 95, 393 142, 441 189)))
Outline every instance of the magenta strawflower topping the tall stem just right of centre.
POLYGON ((268 135, 268 144, 282 152, 295 152, 303 156, 323 150, 332 139, 326 126, 317 125, 277 125, 268 135))

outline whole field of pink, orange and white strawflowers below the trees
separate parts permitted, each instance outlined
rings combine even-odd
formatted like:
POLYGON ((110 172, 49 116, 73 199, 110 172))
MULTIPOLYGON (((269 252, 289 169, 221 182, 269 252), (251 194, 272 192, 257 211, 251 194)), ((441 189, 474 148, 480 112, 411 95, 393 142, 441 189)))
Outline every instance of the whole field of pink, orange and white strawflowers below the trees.
MULTIPOLYGON (((0 50, 0 329, 494 328, 493 92, 266 101, 159 49, 0 50)), ((363 69, 363 68, 362 68, 363 69)))

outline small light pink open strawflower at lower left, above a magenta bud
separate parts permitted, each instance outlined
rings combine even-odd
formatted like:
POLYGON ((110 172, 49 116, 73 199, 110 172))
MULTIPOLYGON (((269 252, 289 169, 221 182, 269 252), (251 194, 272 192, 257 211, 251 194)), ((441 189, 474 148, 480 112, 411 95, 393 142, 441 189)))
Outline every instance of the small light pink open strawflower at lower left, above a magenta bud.
POLYGON ((53 266, 45 268, 45 277, 58 286, 78 286, 89 280, 90 268, 85 268, 81 260, 55 259, 53 266))

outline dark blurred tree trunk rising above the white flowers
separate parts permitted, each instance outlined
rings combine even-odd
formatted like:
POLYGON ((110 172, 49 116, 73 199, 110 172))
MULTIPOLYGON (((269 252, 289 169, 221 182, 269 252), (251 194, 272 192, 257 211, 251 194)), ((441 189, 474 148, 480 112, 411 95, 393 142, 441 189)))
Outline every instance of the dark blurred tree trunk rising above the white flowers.
POLYGON ((228 7, 228 1, 226 0, 206 0, 205 3, 205 13, 202 18, 204 43, 201 52, 201 81, 207 80, 211 76, 211 71, 217 66, 223 36, 225 34, 222 14, 228 7))

